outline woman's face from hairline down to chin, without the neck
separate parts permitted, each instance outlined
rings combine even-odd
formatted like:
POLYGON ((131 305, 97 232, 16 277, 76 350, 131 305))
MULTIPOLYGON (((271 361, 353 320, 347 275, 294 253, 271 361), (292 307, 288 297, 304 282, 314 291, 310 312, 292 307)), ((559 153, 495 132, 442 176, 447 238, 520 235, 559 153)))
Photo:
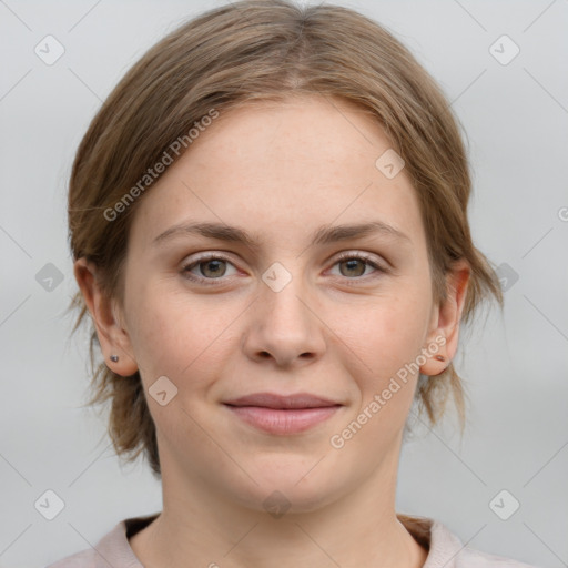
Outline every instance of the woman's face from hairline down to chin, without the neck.
POLYGON ((445 354, 445 328, 415 191, 375 165, 390 148, 338 100, 255 104, 217 119, 143 196, 121 345, 164 481, 258 510, 278 490, 297 511, 392 481, 417 366, 445 354), (258 393, 324 402, 227 405, 258 393))

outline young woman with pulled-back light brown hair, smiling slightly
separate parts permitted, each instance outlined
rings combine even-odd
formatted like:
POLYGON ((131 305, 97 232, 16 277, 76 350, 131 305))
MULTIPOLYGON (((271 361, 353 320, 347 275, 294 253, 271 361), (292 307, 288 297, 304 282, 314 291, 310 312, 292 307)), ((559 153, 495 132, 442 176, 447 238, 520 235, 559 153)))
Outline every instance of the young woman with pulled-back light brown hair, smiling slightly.
POLYGON ((413 400, 464 393, 459 327, 499 282, 459 130, 378 24, 283 0, 211 10, 122 79, 73 166, 93 402, 163 511, 70 566, 528 566, 395 511, 413 400))

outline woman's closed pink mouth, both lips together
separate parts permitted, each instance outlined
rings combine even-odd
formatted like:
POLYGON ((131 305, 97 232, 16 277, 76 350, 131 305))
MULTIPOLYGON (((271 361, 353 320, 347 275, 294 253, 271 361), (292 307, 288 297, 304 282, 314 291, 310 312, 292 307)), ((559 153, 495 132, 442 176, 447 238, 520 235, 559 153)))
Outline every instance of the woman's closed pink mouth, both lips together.
POLYGON ((277 435, 305 432, 331 418, 343 406, 307 393, 288 396, 257 393, 223 404, 241 420, 277 435))

